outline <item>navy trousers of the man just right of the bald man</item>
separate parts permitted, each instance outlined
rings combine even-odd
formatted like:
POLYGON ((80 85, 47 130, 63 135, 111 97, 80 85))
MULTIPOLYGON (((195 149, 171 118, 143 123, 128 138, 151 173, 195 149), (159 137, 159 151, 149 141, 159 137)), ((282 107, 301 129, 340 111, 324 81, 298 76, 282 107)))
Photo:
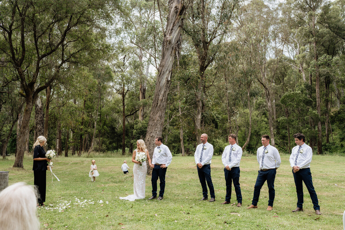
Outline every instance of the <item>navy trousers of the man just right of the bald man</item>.
POLYGON ((226 184, 226 196, 225 201, 231 200, 231 182, 234 182, 236 199, 238 203, 242 203, 242 193, 239 186, 239 167, 233 167, 231 170, 224 168, 225 184, 226 184))

